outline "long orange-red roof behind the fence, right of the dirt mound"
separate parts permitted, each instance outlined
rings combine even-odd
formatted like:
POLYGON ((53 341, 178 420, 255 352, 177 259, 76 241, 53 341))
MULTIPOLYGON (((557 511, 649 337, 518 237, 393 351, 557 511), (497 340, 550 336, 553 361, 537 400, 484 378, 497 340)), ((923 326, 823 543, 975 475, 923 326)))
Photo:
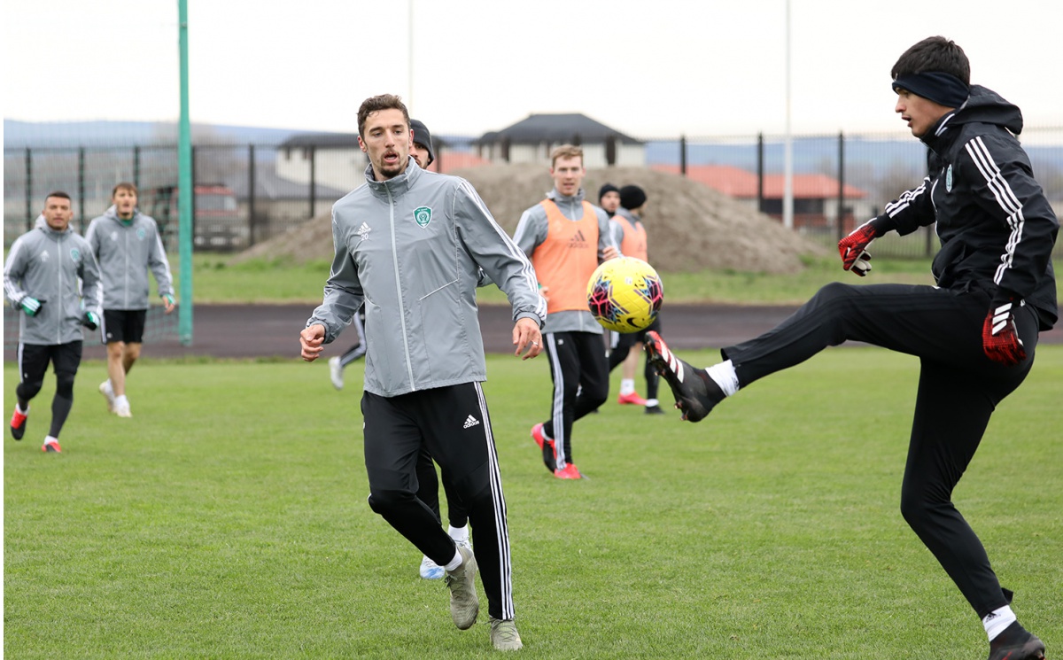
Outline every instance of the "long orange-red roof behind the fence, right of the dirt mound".
MULTIPOLYGON (((655 165, 653 169, 679 173, 678 165, 655 165)), ((687 166, 687 179, 703 183, 733 198, 757 198, 757 174, 740 167, 689 165, 687 166)), ((784 186, 784 174, 764 174, 764 199, 782 199, 784 186)), ((860 200, 867 197, 866 191, 849 184, 845 184, 844 191, 845 199, 849 200, 860 200)), ((793 175, 793 194, 794 199, 797 200, 836 199, 838 198, 838 180, 826 174, 795 173, 793 175)))

